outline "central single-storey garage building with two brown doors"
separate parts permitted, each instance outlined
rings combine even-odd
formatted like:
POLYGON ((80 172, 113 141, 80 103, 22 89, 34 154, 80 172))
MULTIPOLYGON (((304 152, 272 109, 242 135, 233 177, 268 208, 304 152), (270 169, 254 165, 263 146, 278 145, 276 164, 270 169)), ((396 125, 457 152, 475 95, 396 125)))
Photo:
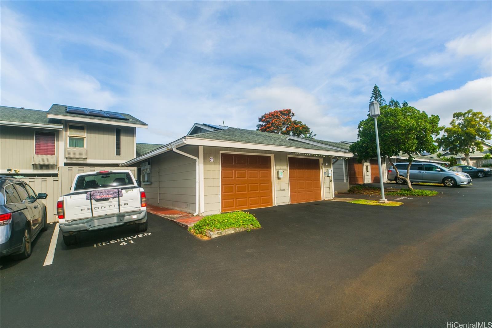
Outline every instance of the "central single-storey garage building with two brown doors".
POLYGON ((140 168, 150 204, 208 215, 331 199, 332 163, 351 157, 307 138, 195 124, 184 137, 121 165, 140 168))

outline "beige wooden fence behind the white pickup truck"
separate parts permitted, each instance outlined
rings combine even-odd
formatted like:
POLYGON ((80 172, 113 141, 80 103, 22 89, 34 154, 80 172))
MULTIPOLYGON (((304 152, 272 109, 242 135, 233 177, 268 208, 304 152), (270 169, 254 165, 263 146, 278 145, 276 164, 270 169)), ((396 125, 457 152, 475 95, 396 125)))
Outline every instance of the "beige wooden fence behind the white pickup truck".
POLYGON ((103 170, 130 170, 133 176, 135 176, 136 173, 136 167, 133 166, 60 166, 58 167, 58 176, 56 177, 30 177, 22 178, 22 180, 28 183, 36 193, 48 194, 48 197, 42 199, 42 201, 46 205, 48 223, 52 223, 58 221, 58 198, 70 192, 70 187, 72 186, 75 175, 103 170))

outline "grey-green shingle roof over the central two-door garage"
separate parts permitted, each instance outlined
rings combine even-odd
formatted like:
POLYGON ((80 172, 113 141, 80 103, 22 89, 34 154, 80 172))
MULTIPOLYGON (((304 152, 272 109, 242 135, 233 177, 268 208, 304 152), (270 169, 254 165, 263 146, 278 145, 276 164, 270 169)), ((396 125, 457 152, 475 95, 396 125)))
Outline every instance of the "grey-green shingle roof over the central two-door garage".
MULTIPOLYGON (((337 151, 323 146, 311 145, 302 141, 286 140, 288 136, 283 134, 262 132, 256 130, 245 130, 245 129, 238 129, 238 128, 229 128, 227 130, 203 132, 203 133, 193 134, 192 136, 188 136, 188 137, 236 141, 236 142, 248 142, 248 143, 257 143, 263 145, 296 147, 296 148, 315 149, 315 150, 337 151)), ((319 140, 313 139, 312 141, 317 142, 319 140)), ((330 142, 330 141, 326 141, 326 142, 330 142)), ((338 146, 334 146, 334 147, 338 147, 338 146)), ((347 147, 344 147, 344 149, 346 148, 347 147)), ((348 150, 346 152, 348 152, 348 150)))

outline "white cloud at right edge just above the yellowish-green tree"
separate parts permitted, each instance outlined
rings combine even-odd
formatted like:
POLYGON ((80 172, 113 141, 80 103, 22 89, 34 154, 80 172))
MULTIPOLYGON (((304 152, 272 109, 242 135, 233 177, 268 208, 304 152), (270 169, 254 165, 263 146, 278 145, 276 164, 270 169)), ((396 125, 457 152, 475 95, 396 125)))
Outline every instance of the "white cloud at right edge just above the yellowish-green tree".
POLYGON ((446 90, 410 103, 428 114, 437 114, 440 124, 449 125, 453 113, 468 109, 492 114, 492 76, 469 81, 458 89, 446 90))

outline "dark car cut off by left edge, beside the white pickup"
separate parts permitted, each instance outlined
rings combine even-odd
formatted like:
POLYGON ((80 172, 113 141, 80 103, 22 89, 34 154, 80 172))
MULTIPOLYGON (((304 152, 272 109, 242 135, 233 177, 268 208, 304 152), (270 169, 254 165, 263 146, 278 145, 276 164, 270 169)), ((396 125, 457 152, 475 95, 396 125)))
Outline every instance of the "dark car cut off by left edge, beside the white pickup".
POLYGON ((46 205, 22 180, 0 177, 0 255, 27 259, 32 253, 32 240, 47 230, 46 205))

